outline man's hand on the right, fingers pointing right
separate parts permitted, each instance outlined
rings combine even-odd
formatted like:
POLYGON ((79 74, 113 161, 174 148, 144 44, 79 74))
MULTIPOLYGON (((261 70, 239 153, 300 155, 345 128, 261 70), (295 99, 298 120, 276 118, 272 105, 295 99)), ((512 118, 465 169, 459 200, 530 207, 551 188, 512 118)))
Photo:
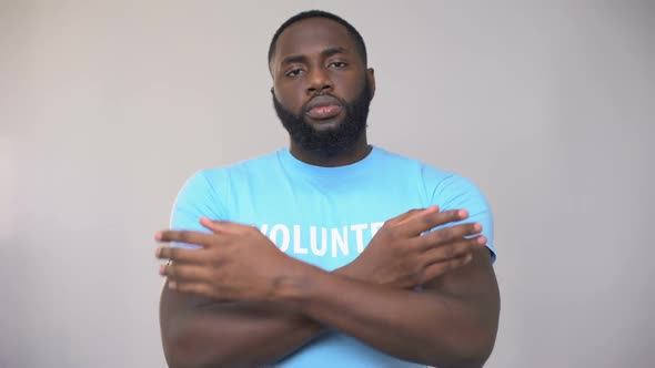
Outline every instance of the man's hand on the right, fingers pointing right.
POLYGON ((478 223, 460 224, 425 233, 447 223, 466 219, 465 209, 439 212, 439 207, 412 209, 380 228, 364 252, 339 274, 357 279, 412 288, 468 263, 472 252, 486 238, 478 223))

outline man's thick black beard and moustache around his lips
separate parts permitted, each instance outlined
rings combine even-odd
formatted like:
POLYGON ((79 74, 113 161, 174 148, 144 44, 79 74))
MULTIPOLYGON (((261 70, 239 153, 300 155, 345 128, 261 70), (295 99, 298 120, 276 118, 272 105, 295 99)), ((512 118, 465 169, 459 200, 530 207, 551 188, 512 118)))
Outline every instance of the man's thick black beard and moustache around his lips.
MULTIPOLYGON (((329 93, 325 93, 329 94, 329 93)), ((343 106, 345 116, 334 129, 318 131, 304 121, 306 103, 302 106, 300 116, 286 110, 273 94, 273 105, 278 117, 289 132, 291 140, 303 150, 318 153, 323 156, 334 156, 344 151, 351 151, 366 131, 369 106, 373 100, 369 78, 364 81, 364 89, 353 102, 343 101, 332 94, 343 106)))

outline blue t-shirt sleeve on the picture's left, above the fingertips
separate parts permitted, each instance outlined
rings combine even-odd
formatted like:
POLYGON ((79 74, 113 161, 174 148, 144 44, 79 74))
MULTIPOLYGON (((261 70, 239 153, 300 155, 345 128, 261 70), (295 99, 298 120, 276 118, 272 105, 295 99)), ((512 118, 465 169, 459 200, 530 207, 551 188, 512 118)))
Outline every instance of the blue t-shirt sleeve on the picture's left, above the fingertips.
MULTIPOLYGON (((193 174, 175 197, 171 211, 171 229, 184 229, 209 233, 210 231, 200 224, 201 217, 211 219, 224 219, 225 211, 220 202, 219 194, 205 172, 193 174)), ((199 246, 185 243, 172 243, 172 246, 198 248, 199 246)))

